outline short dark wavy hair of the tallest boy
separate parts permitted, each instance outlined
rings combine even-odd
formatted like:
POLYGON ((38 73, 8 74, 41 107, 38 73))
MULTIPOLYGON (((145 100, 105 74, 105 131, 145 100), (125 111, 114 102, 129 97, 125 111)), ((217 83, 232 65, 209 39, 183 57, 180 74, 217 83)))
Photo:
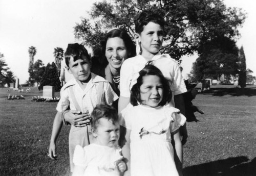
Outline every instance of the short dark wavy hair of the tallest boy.
POLYGON ((135 32, 140 34, 148 22, 157 23, 164 28, 164 19, 159 13, 153 11, 142 11, 134 21, 135 32))

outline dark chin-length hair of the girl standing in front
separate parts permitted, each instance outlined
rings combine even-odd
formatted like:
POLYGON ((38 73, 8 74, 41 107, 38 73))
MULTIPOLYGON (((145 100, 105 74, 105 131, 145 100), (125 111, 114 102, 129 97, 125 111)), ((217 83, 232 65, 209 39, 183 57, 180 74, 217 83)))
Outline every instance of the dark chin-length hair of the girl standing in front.
POLYGON ((148 62, 147 65, 142 70, 140 70, 137 83, 131 89, 131 104, 133 106, 137 106, 138 103, 142 103, 140 98, 140 86, 143 84, 143 77, 148 75, 154 75, 160 78, 160 81, 163 85, 163 99, 159 105, 164 106, 167 102, 172 100, 172 90, 170 90, 169 81, 163 76, 163 73, 156 66, 152 65, 152 62, 148 62))

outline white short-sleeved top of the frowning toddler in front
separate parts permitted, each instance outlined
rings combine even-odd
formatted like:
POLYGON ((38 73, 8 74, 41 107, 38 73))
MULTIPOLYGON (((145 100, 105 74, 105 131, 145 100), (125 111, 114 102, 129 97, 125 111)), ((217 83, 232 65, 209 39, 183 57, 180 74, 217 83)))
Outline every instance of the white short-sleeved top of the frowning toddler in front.
POLYGON ((123 157, 119 147, 90 144, 85 147, 77 145, 73 162, 85 168, 84 176, 119 176, 117 162, 123 157))

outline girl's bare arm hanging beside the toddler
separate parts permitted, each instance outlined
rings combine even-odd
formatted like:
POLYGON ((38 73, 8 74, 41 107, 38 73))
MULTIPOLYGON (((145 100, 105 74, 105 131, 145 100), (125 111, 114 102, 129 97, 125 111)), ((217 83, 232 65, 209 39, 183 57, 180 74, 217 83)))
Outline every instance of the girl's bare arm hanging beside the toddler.
MULTIPOLYGON (((122 127, 122 126, 121 126, 122 127)), ((123 157, 126 160, 126 165, 127 165, 127 169, 124 172, 125 176, 130 176, 131 175, 131 150, 130 150, 130 135, 131 135, 131 130, 126 129, 124 127, 122 127, 122 129, 125 130, 125 139, 121 139, 122 142, 124 142, 124 145, 122 147, 122 154, 123 157)), ((121 132, 123 133, 123 132, 121 132)))

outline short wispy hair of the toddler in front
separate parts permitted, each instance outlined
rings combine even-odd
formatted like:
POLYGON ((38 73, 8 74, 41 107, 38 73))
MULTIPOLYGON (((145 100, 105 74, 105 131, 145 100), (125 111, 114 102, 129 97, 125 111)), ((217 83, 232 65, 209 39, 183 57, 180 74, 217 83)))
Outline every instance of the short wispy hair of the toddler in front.
POLYGON ((92 121, 91 127, 97 128, 97 124, 99 123, 100 118, 106 118, 111 120, 113 124, 119 122, 118 114, 115 108, 110 105, 97 105, 91 114, 92 121))

